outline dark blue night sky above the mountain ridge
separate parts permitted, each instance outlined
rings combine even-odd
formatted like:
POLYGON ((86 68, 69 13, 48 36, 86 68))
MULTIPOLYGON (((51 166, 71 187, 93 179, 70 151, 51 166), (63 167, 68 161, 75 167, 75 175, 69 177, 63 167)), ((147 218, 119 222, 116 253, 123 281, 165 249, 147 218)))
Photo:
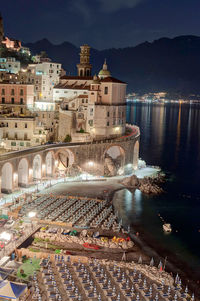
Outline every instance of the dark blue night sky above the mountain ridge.
POLYGON ((24 42, 134 46, 200 35, 200 0, 2 0, 5 34, 24 42))

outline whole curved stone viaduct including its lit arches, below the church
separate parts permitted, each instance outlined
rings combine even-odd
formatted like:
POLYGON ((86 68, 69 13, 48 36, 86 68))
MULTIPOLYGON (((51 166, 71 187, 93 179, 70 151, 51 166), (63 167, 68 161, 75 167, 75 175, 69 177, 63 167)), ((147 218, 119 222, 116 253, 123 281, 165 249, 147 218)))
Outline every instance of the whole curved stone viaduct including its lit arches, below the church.
POLYGON ((139 128, 132 126, 131 134, 92 143, 61 143, 33 147, 0 156, 0 188, 11 193, 18 187, 28 187, 36 180, 56 176, 59 165, 77 165, 83 172, 104 175, 105 158, 120 152, 120 167, 137 167, 139 128), (63 162, 64 161, 64 162, 63 162))

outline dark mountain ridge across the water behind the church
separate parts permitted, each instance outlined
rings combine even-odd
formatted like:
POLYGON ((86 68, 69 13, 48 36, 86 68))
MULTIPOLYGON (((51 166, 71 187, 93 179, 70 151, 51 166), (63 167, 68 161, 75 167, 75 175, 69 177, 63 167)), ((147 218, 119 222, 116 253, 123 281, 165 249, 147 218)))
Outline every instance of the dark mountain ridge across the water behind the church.
MULTIPOLYGON (((44 50, 61 62, 67 74, 76 73, 79 48, 69 42, 54 45, 47 39, 26 44, 33 54, 44 50)), ((136 47, 91 50, 93 73, 107 59, 112 76, 128 83, 128 91, 200 93, 200 37, 161 38, 136 47)))

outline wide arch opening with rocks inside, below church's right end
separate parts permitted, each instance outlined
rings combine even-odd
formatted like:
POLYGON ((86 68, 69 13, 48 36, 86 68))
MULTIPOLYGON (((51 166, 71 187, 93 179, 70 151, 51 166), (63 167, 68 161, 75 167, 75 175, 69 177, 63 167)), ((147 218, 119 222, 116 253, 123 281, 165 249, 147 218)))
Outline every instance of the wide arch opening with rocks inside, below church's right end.
POLYGON ((123 170, 125 151, 120 145, 111 145, 104 152, 104 174, 116 176, 123 170))

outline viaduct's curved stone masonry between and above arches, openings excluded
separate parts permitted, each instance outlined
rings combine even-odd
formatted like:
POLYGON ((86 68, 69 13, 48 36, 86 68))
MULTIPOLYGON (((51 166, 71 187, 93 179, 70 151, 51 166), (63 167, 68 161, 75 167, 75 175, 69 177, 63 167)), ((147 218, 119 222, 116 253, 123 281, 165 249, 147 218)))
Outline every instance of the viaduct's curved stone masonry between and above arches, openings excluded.
MULTIPOLYGON (((2 177, 2 168, 7 163, 11 165, 9 178, 12 179, 12 191, 17 189, 18 183, 18 166, 20 161, 25 158, 27 160, 27 178, 28 183, 33 182, 33 161, 36 155, 41 157, 41 179, 46 178, 46 157, 49 152, 52 153, 52 177, 56 176, 56 169, 59 165, 59 154, 63 150, 68 150, 73 154, 75 167, 80 169, 83 173, 103 176, 105 174, 105 159, 106 153, 111 147, 118 147, 122 150, 121 166, 125 167, 129 164, 137 167, 138 153, 139 153, 139 129, 135 127, 134 135, 127 135, 117 139, 107 139, 101 141, 93 141, 88 143, 66 143, 44 145, 40 147, 26 149, 24 151, 16 151, 4 154, 0 157, 0 176, 2 177)), ((73 166, 72 166, 73 167, 73 166)), ((116 168, 116 170, 119 169, 116 168)), ((25 170, 24 170, 25 172, 25 170)), ((111 176, 114 174, 111 174, 111 176)), ((48 175, 49 176, 49 175, 48 175)), ((8 175, 7 175, 8 177, 8 175)), ((0 179, 1 180, 1 179, 0 179)), ((10 186, 9 186, 10 187, 10 186)), ((2 188, 2 186, 1 186, 2 188)), ((10 191, 10 189, 9 189, 10 191)))

